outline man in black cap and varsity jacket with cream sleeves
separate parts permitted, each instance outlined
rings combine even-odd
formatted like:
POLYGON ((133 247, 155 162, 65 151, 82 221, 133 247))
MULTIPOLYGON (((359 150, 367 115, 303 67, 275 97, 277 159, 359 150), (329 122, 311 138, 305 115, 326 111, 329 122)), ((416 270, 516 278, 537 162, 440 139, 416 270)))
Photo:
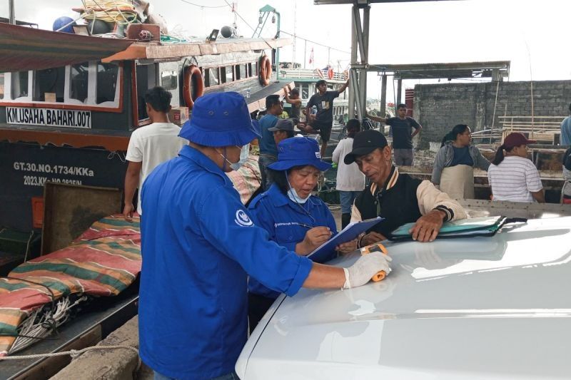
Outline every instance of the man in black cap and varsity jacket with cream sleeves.
POLYGON ((351 221, 385 218, 361 238, 360 247, 385 240, 397 227, 410 222, 416 222, 410 229, 413 240, 433 241, 443 222, 467 217, 458 202, 429 180, 399 174, 390 153, 382 133, 365 130, 355 135, 353 150, 345 156, 345 163, 357 163, 371 182, 355 199, 351 221))

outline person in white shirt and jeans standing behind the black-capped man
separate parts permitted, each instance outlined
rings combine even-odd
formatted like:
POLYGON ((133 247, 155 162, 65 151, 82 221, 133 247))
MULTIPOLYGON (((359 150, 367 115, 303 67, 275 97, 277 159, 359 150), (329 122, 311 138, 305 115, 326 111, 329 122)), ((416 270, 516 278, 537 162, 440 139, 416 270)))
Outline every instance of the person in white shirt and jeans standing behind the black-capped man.
POLYGON ((365 188, 365 175, 361 173, 356 163, 345 164, 345 155, 353 150, 353 138, 361 130, 361 123, 357 119, 347 122, 347 138, 340 140, 333 150, 333 162, 338 164, 337 185, 341 200, 341 227, 345 228, 351 220, 351 206, 355 197, 365 188))

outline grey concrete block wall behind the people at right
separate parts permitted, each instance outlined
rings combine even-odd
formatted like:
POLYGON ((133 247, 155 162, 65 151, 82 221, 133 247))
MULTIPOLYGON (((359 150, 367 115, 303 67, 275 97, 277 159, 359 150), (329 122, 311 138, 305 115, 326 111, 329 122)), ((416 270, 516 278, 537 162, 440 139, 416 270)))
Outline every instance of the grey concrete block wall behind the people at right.
MULTIPOLYGON (((568 115, 571 81, 534 81, 533 102, 535 116, 568 115)), ((439 142, 456 124, 468 124, 473 130, 490 128, 494 108, 494 128, 501 128, 499 116, 531 115, 531 83, 416 85, 414 115, 423 125, 419 147, 428 148, 430 141, 439 142)))

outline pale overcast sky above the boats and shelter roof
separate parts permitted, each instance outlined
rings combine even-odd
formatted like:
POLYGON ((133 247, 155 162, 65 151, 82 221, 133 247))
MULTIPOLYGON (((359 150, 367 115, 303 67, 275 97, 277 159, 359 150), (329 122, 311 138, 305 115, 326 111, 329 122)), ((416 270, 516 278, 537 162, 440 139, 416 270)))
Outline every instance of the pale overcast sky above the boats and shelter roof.
MULTIPOLYGON (((58 16, 79 16, 72 7, 80 0, 15 0, 16 18, 51 29, 58 16)), ((206 36, 211 29, 232 24, 234 16, 225 0, 151 1, 171 31, 206 36)), ((228 0, 228 2, 232 2, 228 0)), ((258 9, 266 4, 281 13, 281 30, 350 51, 348 5, 313 5, 313 0, 238 0, 238 14, 248 24, 258 24, 258 9)), ((8 0, 0 0, 0 16, 8 16, 8 0)), ((238 18, 238 29, 253 31, 238 18)), ((465 0, 396 4, 371 4, 369 63, 433 63, 511 61, 510 81, 571 79, 570 0, 465 0)), ((273 25, 266 36, 275 34, 273 25)), ((285 36, 285 35, 282 35, 285 36)), ((295 61, 303 64, 305 41, 295 44, 295 61)), ((329 61, 341 68, 349 54, 307 43, 305 64, 313 47, 315 67, 329 61)), ((293 46, 284 48, 281 61, 293 60, 293 46)), ((443 80, 444 82, 444 80, 443 80)), ((413 87, 425 81, 405 81, 413 87)), ((388 84, 392 98, 392 83, 388 84)), ((369 73, 368 97, 380 93, 379 80, 369 73)))

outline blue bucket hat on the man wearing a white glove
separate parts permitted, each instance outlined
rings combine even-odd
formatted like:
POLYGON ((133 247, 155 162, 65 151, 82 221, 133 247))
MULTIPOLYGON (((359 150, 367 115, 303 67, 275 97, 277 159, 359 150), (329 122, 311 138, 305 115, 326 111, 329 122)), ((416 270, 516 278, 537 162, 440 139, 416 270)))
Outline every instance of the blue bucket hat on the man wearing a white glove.
POLYGON ((191 118, 178 135, 205 146, 242 146, 260 136, 246 99, 233 91, 196 99, 191 118))

